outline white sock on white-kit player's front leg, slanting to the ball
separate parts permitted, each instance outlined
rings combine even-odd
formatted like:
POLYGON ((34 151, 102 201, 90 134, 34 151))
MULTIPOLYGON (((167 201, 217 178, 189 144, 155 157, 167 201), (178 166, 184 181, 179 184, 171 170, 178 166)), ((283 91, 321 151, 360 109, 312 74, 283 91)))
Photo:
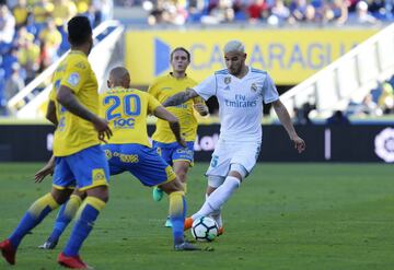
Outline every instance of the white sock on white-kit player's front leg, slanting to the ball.
POLYGON ((200 210, 192 215, 192 219, 195 221, 200 216, 207 216, 212 214, 215 211, 220 211, 221 207, 230 199, 240 185, 241 181, 236 177, 225 177, 224 183, 206 199, 200 210))

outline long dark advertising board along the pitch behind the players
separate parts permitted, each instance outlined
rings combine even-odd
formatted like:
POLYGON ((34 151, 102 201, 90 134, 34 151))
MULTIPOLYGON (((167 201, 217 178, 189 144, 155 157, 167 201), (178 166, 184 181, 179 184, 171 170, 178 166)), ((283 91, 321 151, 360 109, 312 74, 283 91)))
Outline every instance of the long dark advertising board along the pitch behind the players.
MULTIPOLYGON (((148 126, 152 133, 154 126, 148 126)), ((195 161, 209 162, 219 139, 219 125, 201 125, 195 142, 195 161)), ((298 154, 281 126, 263 126, 264 162, 379 162, 394 163, 394 126, 298 126, 306 151, 298 154)), ((46 125, 0 126, 0 162, 47 161, 54 128, 46 125)))

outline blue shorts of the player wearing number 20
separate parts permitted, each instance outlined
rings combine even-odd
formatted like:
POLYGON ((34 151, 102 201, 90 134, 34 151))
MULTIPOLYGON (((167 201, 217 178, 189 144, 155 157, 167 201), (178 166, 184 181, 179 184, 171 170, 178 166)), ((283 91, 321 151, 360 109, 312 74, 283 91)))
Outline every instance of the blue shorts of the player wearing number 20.
POLYGON ((109 165, 109 174, 129 172, 144 186, 152 187, 176 178, 172 167, 154 149, 137 144, 103 144, 109 165))

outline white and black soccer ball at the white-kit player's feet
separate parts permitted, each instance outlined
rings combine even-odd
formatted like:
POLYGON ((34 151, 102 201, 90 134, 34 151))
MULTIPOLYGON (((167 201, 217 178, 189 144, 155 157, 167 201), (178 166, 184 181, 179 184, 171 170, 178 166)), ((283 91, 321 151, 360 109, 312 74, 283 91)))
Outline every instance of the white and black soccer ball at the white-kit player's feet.
POLYGON ((193 222, 192 235, 199 242, 212 242, 218 235, 218 224, 209 216, 202 216, 193 222))

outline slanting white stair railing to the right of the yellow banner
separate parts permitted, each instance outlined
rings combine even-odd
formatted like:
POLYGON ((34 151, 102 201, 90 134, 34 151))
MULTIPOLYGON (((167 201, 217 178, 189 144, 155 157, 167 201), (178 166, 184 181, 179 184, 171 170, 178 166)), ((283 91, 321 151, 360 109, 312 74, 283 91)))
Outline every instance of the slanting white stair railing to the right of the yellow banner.
POLYGON ((320 116, 360 103, 379 82, 394 74, 394 23, 323 70, 292 87, 280 99, 289 111, 314 104, 320 116))

